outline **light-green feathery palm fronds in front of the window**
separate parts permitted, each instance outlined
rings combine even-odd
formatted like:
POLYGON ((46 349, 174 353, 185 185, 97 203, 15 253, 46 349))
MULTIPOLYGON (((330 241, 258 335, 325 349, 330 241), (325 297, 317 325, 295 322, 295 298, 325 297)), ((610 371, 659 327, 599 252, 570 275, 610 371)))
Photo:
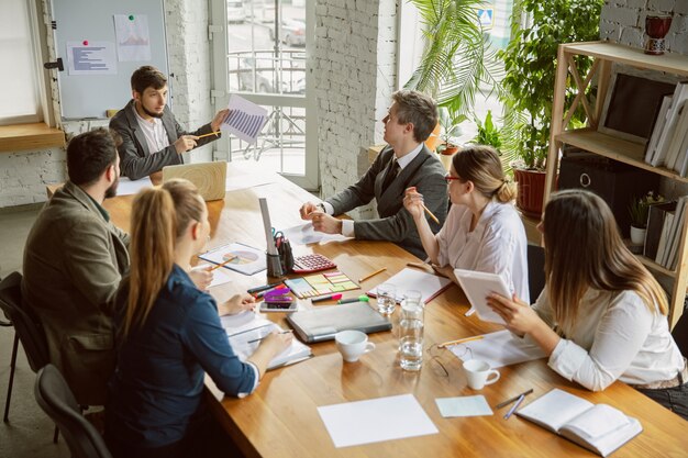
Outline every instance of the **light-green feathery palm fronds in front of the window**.
POLYGON ((451 113, 466 115, 480 87, 501 90, 500 69, 477 19, 482 0, 410 0, 423 23, 425 49, 406 83, 425 92, 451 113))

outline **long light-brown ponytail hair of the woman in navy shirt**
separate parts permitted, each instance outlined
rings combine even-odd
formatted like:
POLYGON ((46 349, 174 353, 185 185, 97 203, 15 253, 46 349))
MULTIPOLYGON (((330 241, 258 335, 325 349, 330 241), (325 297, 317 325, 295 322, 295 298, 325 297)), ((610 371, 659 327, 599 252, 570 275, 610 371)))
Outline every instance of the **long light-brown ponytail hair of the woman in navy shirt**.
POLYGON ((134 199, 124 336, 146 321, 171 272, 177 241, 189 224, 201 221, 204 209, 198 189, 182 179, 143 190, 134 199))

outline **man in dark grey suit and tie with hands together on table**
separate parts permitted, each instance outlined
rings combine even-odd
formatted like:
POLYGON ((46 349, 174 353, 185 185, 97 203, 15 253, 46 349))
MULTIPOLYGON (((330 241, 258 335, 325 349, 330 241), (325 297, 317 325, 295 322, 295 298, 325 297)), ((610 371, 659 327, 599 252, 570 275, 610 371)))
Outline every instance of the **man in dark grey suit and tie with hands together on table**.
POLYGON ((307 202, 301 206, 303 220, 311 220, 315 231, 343 234, 357 239, 389 241, 419 258, 425 258, 423 245, 411 214, 403 208, 407 188, 423 194, 425 206, 440 224, 429 220, 434 233, 440 231, 447 212, 446 170, 423 144, 437 124, 437 105, 428 96, 401 90, 392 94, 392 104, 385 124, 388 146, 380 152, 368 171, 324 202, 307 202), (333 215, 348 212, 377 201, 376 220, 348 221, 333 215))

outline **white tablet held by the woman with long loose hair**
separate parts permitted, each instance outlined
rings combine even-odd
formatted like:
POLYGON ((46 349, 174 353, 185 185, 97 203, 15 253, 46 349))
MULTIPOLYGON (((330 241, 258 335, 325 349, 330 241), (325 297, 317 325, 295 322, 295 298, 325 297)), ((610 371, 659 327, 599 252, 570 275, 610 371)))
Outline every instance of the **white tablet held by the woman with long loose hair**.
POLYGON ((496 292, 506 298, 511 298, 511 292, 504 280, 497 273, 477 272, 474 270, 454 269, 468 302, 475 309, 478 317, 482 321, 507 324, 504 320, 490 309, 487 297, 496 292))

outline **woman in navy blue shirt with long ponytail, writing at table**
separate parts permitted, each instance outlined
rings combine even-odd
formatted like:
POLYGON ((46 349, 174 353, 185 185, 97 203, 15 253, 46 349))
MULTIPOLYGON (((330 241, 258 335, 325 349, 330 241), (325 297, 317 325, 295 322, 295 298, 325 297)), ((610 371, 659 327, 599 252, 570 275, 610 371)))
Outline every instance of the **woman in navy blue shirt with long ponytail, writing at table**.
MULTIPOLYGON (((209 456, 214 450, 208 449, 213 425, 202 401, 206 372, 228 395, 249 394, 292 337, 269 335, 246 362, 232 350, 214 299, 187 273, 210 234, 208 209, 189 181, 140 192, 131 227, 106 439, 115 457, 209 456)), ((223 312, 253 308, 252 302, 235 295, 223 312)))

